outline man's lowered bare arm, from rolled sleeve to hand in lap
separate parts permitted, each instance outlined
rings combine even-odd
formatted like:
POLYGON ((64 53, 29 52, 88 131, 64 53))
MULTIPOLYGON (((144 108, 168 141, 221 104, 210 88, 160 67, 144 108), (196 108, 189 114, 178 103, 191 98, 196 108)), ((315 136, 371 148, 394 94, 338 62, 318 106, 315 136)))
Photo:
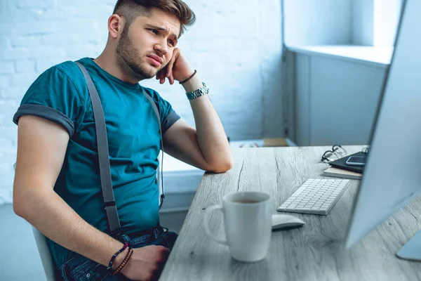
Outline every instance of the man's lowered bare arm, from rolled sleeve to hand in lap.
MULTIPOLYGON (((62 247, 108 266, 123 244, 84 221, 53 190, 68 142, 69 134, 62 126, 32 115, 20 117, 13 209, 62 247)), ((116 257, 114 269, 127 252, 116 257)), ((168 249, 160 246, 134 249, 121 273, 132 280, 149 280, 166 256, 168 249)))

